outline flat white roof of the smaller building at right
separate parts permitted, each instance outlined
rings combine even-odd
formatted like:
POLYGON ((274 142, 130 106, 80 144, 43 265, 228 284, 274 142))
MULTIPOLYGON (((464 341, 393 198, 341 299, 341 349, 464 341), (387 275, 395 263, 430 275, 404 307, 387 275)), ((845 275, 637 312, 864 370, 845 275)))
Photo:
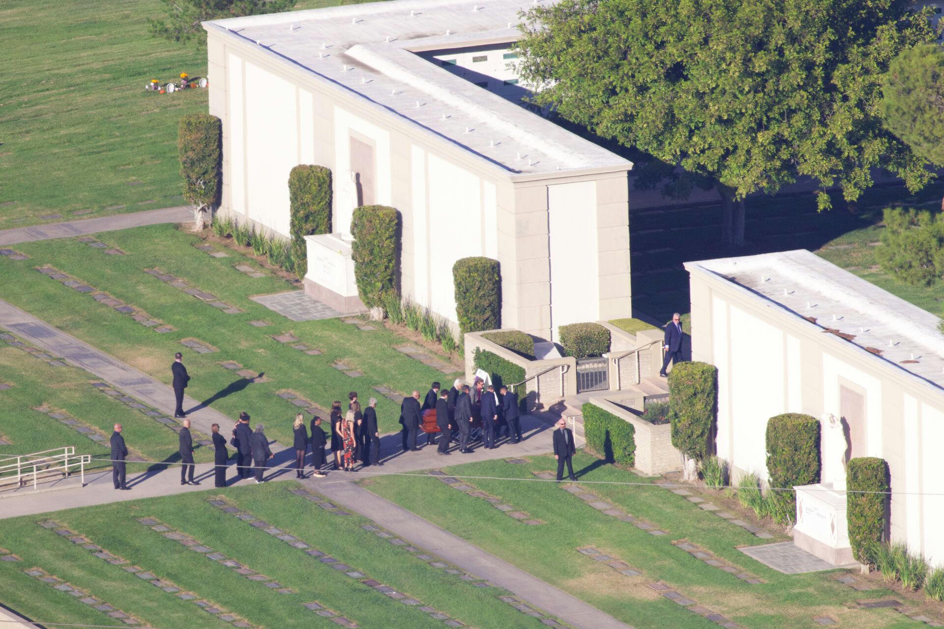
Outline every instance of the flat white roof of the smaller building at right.
MULTIPOLYGON (((689 273, 713 273, 757 299, 845 339, 944 388, 944 335, 935 315, 909 304, 806 250, 685 262, 689 273)), ((838 339, 837 339, 838 340, 838 339)), ((841 341, 840 341, 841 342, 841 341)))

